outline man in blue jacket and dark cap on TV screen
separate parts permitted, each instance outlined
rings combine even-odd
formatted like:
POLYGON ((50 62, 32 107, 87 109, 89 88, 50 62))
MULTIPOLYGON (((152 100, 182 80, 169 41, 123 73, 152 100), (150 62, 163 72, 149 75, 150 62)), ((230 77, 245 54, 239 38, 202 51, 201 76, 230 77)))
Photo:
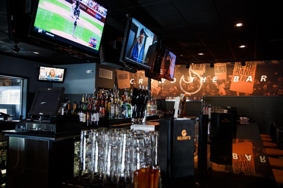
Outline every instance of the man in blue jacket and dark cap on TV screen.
POLYGON ((136 40, 134 41, 133 44, 134 47, 132 48, 131 55, 129 57, 138 63, 141 63, 144 54, 144 45, 143 45, 144 36, 145 36, 145 32, 144 32, 144 28, 142 28, 139 33, 139 37, 137 37, 136 40))

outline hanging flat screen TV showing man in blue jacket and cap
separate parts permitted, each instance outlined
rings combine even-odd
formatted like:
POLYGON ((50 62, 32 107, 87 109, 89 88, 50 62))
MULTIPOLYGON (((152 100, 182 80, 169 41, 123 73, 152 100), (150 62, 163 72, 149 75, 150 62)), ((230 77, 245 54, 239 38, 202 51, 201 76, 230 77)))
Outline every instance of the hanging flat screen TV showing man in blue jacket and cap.
POLYGON ((152 71, 158 36, 130 17, 126 26, 120 61, 127 61, 131 66, 152 71))

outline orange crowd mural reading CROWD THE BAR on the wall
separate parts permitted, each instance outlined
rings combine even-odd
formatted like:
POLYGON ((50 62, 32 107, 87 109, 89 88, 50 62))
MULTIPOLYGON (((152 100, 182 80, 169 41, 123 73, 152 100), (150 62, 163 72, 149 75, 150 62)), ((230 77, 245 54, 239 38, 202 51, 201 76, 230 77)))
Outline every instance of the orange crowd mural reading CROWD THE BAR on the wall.
MULTIPOLYGON (((283 60, 176 65, 174 80, 151 80, 152 95, 282 96, 283 60), (271 65, 272 64, 272 65, 271 65)), ((119 71, 119 70, 118 70, 119 71)), ((119 88, 147 87, 144 71, 116 73, 119 88)))

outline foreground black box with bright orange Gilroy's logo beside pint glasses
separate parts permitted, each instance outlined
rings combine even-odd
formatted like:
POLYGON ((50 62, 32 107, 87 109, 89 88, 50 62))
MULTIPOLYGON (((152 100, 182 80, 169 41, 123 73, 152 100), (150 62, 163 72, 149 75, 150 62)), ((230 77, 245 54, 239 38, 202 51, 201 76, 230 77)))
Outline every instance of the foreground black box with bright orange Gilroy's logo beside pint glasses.
POLYGON ((195 119, 160 119, 159 163, 162 178, 194 175, 195 119))

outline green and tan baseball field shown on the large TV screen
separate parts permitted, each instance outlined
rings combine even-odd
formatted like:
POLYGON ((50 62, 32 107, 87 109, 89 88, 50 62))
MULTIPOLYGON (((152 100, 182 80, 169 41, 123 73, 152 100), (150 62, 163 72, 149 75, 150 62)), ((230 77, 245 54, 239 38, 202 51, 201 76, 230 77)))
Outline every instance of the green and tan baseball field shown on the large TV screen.
POLYGON ((72 36, 75 19, 70 16, 71 6, 65 0, 40 0, 34 26, 84 46, 88 46, 91 36, 97 39, 96 48, 93 49, 98 50, 104 23, 80 10, 72 36))

